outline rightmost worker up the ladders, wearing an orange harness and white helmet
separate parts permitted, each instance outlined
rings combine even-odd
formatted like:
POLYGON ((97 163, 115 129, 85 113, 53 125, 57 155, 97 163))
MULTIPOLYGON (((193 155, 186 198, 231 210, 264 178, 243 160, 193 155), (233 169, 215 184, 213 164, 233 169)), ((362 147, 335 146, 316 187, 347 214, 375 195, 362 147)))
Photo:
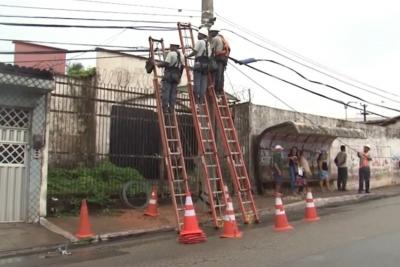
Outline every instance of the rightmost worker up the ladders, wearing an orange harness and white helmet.
POLYGON ((224 72, 228 63, 230 47, 226 39, 220 34, 217 26, 210 28, 212 56, 216 61, 216 70, 214 72, 214 89, 217 95, 224 93, 224 72))

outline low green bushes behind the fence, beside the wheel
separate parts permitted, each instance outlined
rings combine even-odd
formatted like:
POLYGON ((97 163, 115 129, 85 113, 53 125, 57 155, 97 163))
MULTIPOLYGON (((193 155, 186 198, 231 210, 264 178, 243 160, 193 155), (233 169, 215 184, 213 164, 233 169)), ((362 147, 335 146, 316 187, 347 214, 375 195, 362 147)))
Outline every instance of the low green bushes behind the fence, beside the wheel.
MULTIPOLYGON (((121 168, 104 161, 93 168, 49 169, 48 195, 79 207, 82 198, 99 208, 113 204, 128 181, 146 184, 146 179, 133 168, 121 168)), ((139 190, 139 188, 138 188, 139 190)))

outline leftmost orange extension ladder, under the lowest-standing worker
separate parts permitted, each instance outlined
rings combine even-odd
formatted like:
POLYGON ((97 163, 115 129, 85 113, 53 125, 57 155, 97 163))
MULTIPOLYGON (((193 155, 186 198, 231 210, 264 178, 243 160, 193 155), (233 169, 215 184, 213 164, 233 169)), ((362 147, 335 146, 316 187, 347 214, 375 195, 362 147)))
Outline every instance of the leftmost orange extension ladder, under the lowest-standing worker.
MULTIPOLYGON (((163 40, 149 37, 149 45, 150 58, 152 62, 154 64, 156 64, 156 62, 164 62, 165 48, 163 40)), ((175 111, 171 113, 163 112, 161 98, 161 79, 163 77, 162 69, 154 67, 153 77, 163 156, 171 190, 172 203, 175 208, 176 222, 178 230, 180 230, 185 212, 186 193, 189 192, 185 159, 183 157, 176 113, 175 111)))

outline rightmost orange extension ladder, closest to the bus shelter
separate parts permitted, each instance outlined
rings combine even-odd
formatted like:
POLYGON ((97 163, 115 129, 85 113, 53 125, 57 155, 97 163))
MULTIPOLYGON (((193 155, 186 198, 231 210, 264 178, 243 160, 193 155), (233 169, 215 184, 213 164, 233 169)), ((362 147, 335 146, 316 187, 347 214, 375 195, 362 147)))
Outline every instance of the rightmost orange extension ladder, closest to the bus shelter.
POLYGON ((254 202, 249 175, 240 148, 232 114, 229 109, 228 100, 225 92, 217 98, 214 90, 214 79, 211 74, 209 74, 208 82, 209 86, 207 91, 215 108, 217 127, 219 128, 223 140, 229 172, 233 180, 244 223, 251 223, 253 221, 259 222, 260 218, 254 202))

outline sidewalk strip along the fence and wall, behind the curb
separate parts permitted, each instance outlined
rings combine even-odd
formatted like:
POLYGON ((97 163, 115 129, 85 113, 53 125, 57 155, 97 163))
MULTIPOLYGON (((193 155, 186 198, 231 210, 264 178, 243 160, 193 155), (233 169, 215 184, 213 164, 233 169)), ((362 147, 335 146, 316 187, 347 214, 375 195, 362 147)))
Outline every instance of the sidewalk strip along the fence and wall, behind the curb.
MULTIPOLYGON (((347 192, 313 192, 315 203, 319 207, 340 205, 349 202, 360 202, 400 195, 400 186, 376 188, 371 194, 357 194, 357 191, 347 192)), ((272 194, 255 196, 257 208, 262 217, 274 214, 274 197, 272 194)), ((303 196, 283 196, 286 210, 304 209, 303 196)), ((203 205, 196 206, 198 220, 203 227, 212 228, 209 215, 203 205)), ((161 231, 175 230, 175 213, 172 205, 161 205, 160 216, 146 217, 143 210, 119 210, 111 215, 90 215, 92 230, 96 233, 94 241, 105 241, 112 238, 142 235, 161 231)), ((238 219, 240 219, 238 217, 238 219)), ((18 254, 56 249, 57 245, 74 243, 77 239, 79 217, 63 216, 47 218, 41 224, 0 224, 0 258, 18 254), (64 236, 64 237, 63 237, 64 236)))

